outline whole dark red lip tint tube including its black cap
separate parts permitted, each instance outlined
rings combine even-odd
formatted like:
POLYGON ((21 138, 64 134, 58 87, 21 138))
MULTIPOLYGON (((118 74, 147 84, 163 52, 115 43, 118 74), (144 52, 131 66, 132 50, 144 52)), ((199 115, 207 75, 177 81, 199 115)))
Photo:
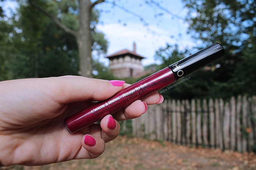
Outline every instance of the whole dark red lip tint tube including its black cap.
POLYGON ((75 133, 90 124, 93 124, 108 114, 121 110, 129 106, 136 100, 142 99, 163 87, 172 84, 207 66, 225 54, 223 47, 219 43, 204 48, 158 72, 132 84, 129 87, 117 92, 111 98, 97 102, 64 120, 69 133, 75 133))

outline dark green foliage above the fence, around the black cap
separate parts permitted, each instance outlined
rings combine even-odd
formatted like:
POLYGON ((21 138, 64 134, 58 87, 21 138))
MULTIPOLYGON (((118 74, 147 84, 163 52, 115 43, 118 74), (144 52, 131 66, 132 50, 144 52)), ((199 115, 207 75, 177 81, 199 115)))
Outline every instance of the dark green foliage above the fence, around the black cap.
MULTIPOLYGON (((219 42, 225 56, 189 75, 191 79, 163 92, 165 98, 223 98, 256 95, 256 2, 230 0, 182 0, 189 9, 189 33, 198 42, 198 49, 219 42)), ((156 52, 162 68, 187 56, 178 47, 156 52)), ((184 78, 185 79, 185 78, 184 78)), ((176 82, 177 83, 177 82, 176 82)), ((161 91, 161 90, 159 90, 161 91)))

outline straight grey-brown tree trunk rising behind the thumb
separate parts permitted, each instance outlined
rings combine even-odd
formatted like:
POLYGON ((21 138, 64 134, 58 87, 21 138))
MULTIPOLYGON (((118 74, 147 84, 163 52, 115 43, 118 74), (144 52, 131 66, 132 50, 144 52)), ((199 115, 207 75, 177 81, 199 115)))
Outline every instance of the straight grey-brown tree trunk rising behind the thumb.
POLYGON ((92 78, 92 59, 91 59, 91 1, 90 0, 79 0, 80 10, 80 27, 77 32, 77 43, 79 52, 79 66, 81 76, 92 78))

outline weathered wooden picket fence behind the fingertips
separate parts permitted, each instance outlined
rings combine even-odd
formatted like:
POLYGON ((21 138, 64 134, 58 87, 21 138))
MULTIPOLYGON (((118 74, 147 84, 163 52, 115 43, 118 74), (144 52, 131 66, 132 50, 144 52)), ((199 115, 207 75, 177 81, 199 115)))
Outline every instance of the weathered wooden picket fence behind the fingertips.
POLYGON ((165 100, 132 120, 133 135, 182 145, 251 152, 256 149, 256 96, 165 100))

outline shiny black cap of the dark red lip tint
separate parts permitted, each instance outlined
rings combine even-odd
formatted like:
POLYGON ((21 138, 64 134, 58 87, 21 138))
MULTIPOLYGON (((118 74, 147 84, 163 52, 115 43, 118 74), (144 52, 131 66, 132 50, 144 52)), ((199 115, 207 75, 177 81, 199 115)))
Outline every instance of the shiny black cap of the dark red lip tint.
POLYGON ((192 54, 172 65, 170 65, 170 69, 173 71, 176 79, 180 79, 184 76, 207 66, 208 64, 218 60, 222 56, 224 56, 225 52, 221 44, 214 43, 211 46, 204 48, 192 54))

